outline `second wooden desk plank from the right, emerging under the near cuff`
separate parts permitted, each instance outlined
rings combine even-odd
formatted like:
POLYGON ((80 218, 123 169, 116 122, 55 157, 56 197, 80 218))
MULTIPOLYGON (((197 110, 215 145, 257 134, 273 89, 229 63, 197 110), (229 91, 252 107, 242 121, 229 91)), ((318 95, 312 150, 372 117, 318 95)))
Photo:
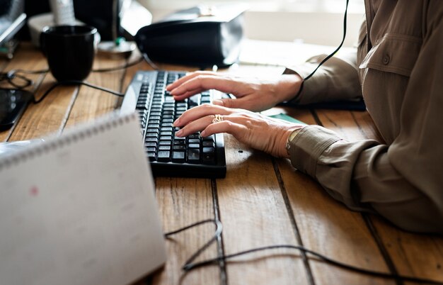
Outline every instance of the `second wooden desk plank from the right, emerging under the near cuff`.
MULTIPOLYGON (((289 115, 309 124, 316 121, 310 111, 287 109, 289 115)), ((350 125, 343 127, 352 133, 350 125)), ((289 160, 278 160, 289 202, 306 247, 330 258, 357 267, 388 272, 367 226, 359 213, 332 199, 310 177, 297 172, 289 160)), ((310 259, 316 284, 393 284, 310 259)))

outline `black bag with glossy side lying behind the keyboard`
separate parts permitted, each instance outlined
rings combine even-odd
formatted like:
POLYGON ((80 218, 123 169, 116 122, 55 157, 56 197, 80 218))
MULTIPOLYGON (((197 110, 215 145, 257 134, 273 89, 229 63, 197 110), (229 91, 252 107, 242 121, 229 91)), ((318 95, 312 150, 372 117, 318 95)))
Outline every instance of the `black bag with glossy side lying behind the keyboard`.
POLYGON ((229 66, 238 60, 244 6, 194 7, 141 28, 134 39, 151 60, 194 67, 229 66))

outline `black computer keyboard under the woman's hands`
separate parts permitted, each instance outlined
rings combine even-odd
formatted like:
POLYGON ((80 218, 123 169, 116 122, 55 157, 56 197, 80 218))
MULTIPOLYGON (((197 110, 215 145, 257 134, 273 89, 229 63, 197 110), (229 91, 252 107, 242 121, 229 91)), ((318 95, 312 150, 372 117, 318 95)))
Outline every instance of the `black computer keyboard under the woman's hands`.
POLYGON ((175 101, 166 85, 185 72, 140 71, 134 75, 122 102, 122 113, 137 111, 143 135, 146 159, 154 176, 205 177, 226 176, 223 134, 202 138, 194 133, 178 138, 173 122, 189 108, 211 103, 213 91, 205 91, 184 101, 175 101))

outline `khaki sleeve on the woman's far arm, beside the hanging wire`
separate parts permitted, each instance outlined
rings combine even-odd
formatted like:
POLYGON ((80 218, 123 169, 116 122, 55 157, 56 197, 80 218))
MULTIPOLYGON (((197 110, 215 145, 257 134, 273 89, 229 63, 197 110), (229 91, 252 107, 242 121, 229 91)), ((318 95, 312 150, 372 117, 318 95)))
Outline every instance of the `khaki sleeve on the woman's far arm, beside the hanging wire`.
MULTIPOLYGON (((284 74, 299 74, 307 77, 326 55, 311 57, 303 65, 288 67, 284 74)), ((331 57, 310 79, 303 82, 301 92, 290 101, 292 104, 312 104, 328 101, 359 100, 362 89, 356 67, 357 50, 343 52, 340 57, 331 57)), ((294 94, 296 95, 296 94, 294 94)))

